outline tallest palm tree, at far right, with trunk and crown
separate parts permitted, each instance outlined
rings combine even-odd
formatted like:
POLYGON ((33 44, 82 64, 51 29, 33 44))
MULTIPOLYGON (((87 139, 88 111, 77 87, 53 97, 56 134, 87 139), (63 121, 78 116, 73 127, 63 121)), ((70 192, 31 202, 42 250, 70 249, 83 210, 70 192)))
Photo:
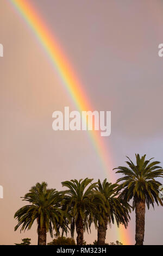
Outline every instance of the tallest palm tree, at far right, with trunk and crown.
POLYGON ((136 154, 136 165, 127 157, 129 161, 126 161, 129 167, 119 166, 116 173, 121 173, 124 176, 117 180, 121 182, 119 190, 121 191, 120 198, 122 200, 133 199, 133 210, 136 214, 136 234, 135 245, 143 245, 145 234, 145 208, 149 209, 149 205, 152 204, 154 208, 154 202, 161 205, 162 201, 159 198, 159 186, 161 183, 156 181, 156 178, 163 176, 162 167, 158 166, 160 162, 153 159, 145 160, 146 155, 141 158, 139 154, 136 154))

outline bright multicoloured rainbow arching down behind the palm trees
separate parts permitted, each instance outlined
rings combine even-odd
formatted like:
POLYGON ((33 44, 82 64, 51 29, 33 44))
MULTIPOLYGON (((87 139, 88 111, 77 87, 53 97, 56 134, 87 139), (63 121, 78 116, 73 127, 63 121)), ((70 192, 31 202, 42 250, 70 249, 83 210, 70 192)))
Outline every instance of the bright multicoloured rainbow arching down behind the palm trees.
MULTIPOLYGON (((57 70, 64 88, 67 90, 68 95, 76 106, 78 111, 91 111, 92 107, 90 100, 87 99, 86 93, 84 92, 84 87, 80 84, 77 75, 75 74, 72 66, 66 58, 66 54, 61 49, 60 44, 54 35, 49 31, 46 23, 37 13, 33 5, 28 0, 9 0, 15 9, 23 17, 24 21, 34 32, 36 38, 39 40, 43 49, 47 53, 49 59, 55 70, 57 70)), ((109 180, 114 182, 116 180, 113 173, 109 173, 111 166, 111 157, 108 153, 102 138, 99 136, 98 131, 89 131, 89 138, 95 148, 96 154, 99 161, 106 174, 109 175, 109 180)), ((127 230, 123 228, 117 229, 118 239, 123 242, 123 244, 130 244, 130 239, 127 230)))

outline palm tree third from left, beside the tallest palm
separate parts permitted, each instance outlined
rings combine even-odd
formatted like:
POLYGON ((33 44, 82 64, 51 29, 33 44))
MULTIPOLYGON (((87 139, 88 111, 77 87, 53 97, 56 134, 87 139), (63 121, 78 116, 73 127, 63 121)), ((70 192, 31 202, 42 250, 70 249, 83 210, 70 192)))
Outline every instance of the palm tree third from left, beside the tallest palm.
POLYGON ((105 245, 108 223, 109 225, 111 223, 114 224, 114 220, 116 220, 118 227, 120 224, 124 224, 124 227, 127 227, 130 220, 130 205, 117 198, 117 187, 117 184, 111 184, 106 179, 104 179, 103 183, 98 180, 97 189, 102 194, 105 208, 98 205, 99 214, 95 216, 95 223, 98 222, 97 245, 105 245), (99 219, 99 216, 102 218, 99 219))

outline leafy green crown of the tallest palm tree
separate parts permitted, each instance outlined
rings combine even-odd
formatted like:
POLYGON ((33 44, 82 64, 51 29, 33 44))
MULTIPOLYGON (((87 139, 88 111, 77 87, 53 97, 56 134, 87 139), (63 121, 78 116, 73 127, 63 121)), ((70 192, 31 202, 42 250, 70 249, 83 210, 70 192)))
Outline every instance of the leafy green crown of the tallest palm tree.
POLYGON ((126 161, 128 167, 119 166, 114 169, 118 169, 116 173, 121 173, 124 176, 117 180, 121 182, 119 190, 122 190, 120 198, 129 201, 133 200, 133 209, 135 208, 135 200, 145 200, 147 207, 154 202, 162 205, 162 200, 159 198, 159 186, 161 183, 156 181, 155 178, 163 176, 162 167, 158 166, 160 162, 151 162, 151 159, 145 160, 146 155, 140 158, 139 154, 136 154, 136 165, 127 157, 129 161, 126 161))

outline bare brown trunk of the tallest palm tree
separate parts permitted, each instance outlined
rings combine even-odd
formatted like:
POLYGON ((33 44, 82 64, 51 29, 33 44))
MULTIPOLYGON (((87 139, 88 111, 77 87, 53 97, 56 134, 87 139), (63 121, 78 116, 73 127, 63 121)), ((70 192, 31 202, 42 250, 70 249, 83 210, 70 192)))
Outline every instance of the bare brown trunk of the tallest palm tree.
POLYGON ((143 245, 145 235, 145 200, 135 200, 135 214, 136 214, 136 234, 135 245, 143 245))

